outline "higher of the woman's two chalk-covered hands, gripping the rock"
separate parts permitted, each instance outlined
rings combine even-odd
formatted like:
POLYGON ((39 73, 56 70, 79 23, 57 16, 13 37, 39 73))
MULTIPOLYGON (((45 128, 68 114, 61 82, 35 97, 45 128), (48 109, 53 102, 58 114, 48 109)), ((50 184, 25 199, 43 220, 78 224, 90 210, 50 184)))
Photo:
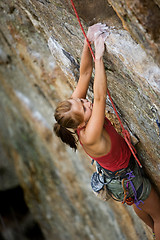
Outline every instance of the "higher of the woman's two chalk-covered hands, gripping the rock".
POLYGON ((107 30, 108 27, 106 24, 102 23, 96 23, 93 26, 89 27, 87 32, 87 38, 89 42, 93 43, 99 35, 105 33, 107 30))

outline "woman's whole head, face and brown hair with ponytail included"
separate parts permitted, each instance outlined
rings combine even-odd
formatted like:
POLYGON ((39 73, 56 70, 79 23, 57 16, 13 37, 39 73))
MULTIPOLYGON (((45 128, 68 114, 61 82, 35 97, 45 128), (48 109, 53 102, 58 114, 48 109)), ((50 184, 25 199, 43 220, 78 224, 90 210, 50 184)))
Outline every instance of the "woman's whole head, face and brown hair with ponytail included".
POLYGON ((91 116, 92 105, 85 99, 69 99, 60 102, 55 110, 54 132, 71 148, 77 149, 75 132, 78 127, 85 125, 91 116))

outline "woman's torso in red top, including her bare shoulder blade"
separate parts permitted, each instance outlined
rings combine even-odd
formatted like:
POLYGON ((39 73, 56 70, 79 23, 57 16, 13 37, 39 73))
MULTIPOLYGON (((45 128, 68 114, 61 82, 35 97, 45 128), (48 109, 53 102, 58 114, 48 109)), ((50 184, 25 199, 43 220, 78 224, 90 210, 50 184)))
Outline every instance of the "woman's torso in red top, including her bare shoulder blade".
MULTIPOLYGON (((81 143, 80 131, 81 129, 77 129, 81 143)), ((105 118, 102 135, 103 141, 99 144, 100 146, 88 147, 81 143, 86 153, 102 167, 110 171, 126 168, 129 163, 131 152, 123 137, 116 132, 107 118, 105 118)))

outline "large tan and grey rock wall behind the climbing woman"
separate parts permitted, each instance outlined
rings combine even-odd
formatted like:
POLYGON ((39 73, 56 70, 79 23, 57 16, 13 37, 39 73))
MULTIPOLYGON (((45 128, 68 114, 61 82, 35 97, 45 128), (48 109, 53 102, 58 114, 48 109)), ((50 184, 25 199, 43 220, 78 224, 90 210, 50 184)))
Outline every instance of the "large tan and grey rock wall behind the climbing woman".
MULTIPOLYGON (((107 1, 75 1, 85 30, 96 22, 109 25, 108 88, 159 189, 158 1, 110 4, 128 31, 107 1)), ((53 109, 76 85, 84 41, 70 1, 3 0, 0 9, 0 189, 22 186, 47 240, 151 239, 131 208, 93 195, 90 159, 52 134, 53 109)))

